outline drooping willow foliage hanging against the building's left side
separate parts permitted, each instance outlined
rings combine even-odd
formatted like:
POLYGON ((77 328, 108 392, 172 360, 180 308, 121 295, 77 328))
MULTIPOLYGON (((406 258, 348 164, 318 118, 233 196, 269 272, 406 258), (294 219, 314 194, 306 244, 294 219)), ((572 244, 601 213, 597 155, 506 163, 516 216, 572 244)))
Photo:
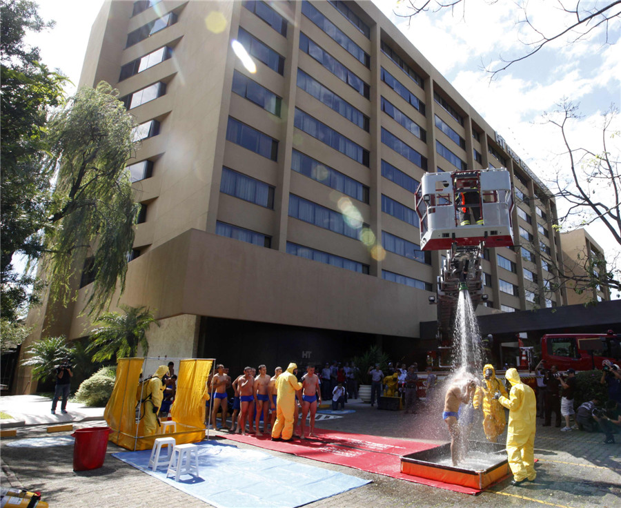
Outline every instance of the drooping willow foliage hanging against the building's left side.
POLYGON ((75 262, 88 256, 95 282, 87 306, 95 313, 110 303, 117 280, 124 290, 139 211, 126 170, 137 124, 116 95, 103 81, 83 87, 48 124, 50 164, 58 168, 43 258, 50 295, 72 297, 75 262))

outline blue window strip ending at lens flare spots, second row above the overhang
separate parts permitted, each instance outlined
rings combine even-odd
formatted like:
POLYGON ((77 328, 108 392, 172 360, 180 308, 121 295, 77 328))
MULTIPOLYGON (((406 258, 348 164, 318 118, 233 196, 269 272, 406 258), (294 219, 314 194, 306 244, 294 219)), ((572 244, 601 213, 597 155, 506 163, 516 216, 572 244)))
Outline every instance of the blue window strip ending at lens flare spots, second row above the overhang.
POLYGON ((362 222, 362 217, 344 217, 340 212, 313 203, 295 194, 289 195, 289 217, 339 233, 339 235, 355 238, 355 240, 358 240, 362 227, 366 226, 362 222))

